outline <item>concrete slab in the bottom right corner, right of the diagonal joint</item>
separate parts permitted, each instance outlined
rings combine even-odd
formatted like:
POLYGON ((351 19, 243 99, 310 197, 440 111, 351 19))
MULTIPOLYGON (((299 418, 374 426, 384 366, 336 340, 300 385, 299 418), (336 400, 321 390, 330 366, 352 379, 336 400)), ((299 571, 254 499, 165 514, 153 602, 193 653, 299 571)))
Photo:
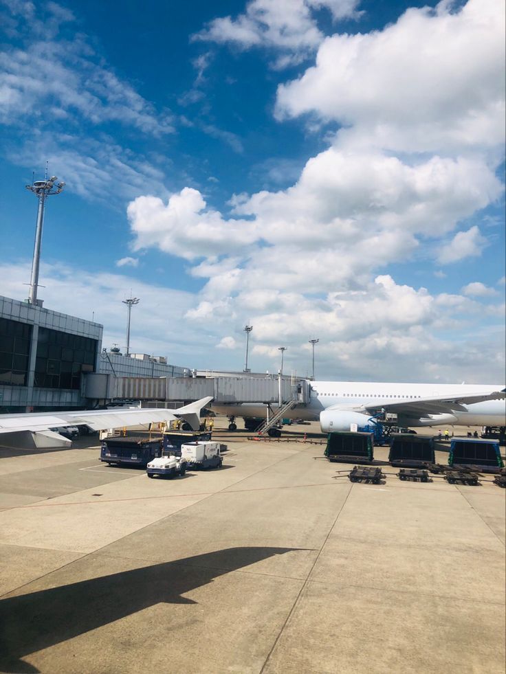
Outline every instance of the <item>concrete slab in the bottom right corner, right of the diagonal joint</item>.
POLYGON ((500 603, 310 582, 263 672, 503 674, 504 635, 500 603))

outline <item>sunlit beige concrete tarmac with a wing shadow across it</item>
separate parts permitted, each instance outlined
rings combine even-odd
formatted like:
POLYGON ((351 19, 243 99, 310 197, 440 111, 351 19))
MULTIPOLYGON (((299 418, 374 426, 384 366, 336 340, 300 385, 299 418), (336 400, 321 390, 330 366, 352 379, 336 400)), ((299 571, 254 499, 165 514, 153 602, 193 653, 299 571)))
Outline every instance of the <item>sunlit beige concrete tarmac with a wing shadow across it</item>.
POLYGON ((491 476, 401 482, 377 447, 382 484, 352 484, 316 423, 227 423, 223 468, 173 480, 102 464, 96 437, 0 449, 0 671, 504 673, 491 476))

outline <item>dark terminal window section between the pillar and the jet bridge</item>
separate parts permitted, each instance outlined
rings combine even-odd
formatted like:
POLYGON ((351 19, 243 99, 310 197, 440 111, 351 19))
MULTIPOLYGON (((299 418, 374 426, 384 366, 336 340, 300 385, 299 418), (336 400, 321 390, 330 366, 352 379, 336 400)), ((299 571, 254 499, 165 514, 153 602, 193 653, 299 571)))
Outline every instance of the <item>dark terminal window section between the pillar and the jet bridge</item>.
POLYGON ((94 372, 97 340, 39 328, 34 385, 79 389, 81 372, 94 372))

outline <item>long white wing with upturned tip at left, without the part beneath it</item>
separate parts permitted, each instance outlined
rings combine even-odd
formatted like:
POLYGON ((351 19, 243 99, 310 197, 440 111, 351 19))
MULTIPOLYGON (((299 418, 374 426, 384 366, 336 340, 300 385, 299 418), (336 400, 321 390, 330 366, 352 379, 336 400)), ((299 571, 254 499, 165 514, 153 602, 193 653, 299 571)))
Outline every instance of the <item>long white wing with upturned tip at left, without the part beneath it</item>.
POLYGON ((199 413, 212 401, 212 396, 201 398, 177 409, 151 407, 131 409, 80 409, 75 412, 26 412, 25 414, 0 414, 0 434, 17 431, 47 431, 58 426, 87 425, 94 431, 121 428, 137 424, 186 420, 194 430, 199 429, 199 413))

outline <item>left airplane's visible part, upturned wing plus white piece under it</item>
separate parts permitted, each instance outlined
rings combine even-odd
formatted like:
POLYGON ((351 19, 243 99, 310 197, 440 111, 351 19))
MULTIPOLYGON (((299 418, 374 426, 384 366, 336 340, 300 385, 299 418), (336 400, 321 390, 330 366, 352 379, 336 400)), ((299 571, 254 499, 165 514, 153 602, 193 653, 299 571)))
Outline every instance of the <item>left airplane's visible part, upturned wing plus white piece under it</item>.
POLYGON ((200 411, 212 401, 212 396, 177 409, 157 409, 152 407, 113 407, 111 409, 79 409, 72 412, 24 412, 21 414, 0 414, 0 445, 23 447, 55 447, 67 444, 63 436, 51 431, 54 427, 89 426, 94 431, 122 428, 144 423, 184 421, 194 431, 199 430, 200 411))

